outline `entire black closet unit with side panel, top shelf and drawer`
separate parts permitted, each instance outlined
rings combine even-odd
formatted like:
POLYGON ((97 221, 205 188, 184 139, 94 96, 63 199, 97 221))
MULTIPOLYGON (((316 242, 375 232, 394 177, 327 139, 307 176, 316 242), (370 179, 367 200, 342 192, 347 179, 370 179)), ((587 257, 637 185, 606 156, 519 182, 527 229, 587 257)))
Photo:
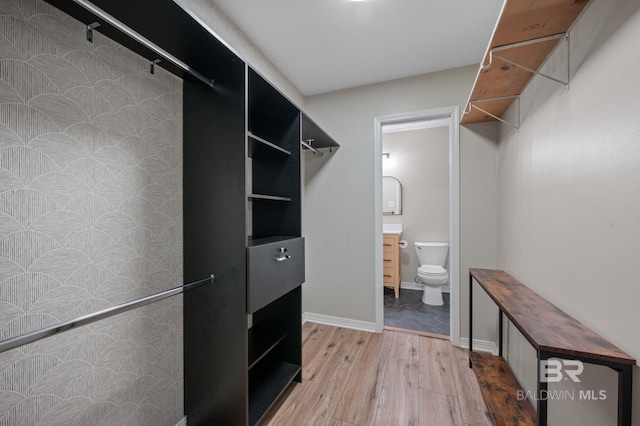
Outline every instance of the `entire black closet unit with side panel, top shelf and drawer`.
POLYGON ((216 274, 184 294, 185 414, 255 425, 302 380, 300 142, 338 145, 173 0, 46 1, 155 63, 123 24, 200 75, 157 63, 183 79, 184 280, 216 274))

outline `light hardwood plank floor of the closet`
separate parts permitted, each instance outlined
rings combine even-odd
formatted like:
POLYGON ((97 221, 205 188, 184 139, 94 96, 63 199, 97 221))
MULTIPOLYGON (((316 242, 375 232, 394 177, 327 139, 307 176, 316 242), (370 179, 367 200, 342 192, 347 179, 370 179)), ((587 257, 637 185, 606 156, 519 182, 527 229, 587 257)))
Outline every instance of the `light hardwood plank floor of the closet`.
POLYGON ((447 340, 310 322, 302 338, 302 383, 262 425, 492 425, 467 352, 447 340))

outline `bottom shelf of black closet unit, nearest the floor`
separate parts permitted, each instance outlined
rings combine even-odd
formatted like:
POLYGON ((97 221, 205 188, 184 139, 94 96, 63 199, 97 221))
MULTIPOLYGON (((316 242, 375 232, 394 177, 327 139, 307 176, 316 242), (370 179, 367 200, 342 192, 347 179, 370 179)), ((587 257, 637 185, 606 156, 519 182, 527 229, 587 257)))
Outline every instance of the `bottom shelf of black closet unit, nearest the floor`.
POLYGON ((269 410, 273 401, 300 373, 302 367, 297 364, 280 362, 270 368, 264 368, 250 374, 249 386, 249 424, 257 424, 269 410))

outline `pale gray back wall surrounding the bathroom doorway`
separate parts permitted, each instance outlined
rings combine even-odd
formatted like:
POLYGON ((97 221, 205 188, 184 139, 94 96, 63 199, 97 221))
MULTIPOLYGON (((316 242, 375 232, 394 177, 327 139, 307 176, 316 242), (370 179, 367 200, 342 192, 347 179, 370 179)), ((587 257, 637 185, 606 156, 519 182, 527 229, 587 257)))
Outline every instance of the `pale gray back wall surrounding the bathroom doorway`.
MULTIPOLYGON (((304 311, 375 322, 374 246, 375 233, 382 230, 376 229, 374 217, 374 117, 452 105, 459 105, 462 111, 476 71, 476 66, 463 67, 306 98, 305 108, 341 147, 329 158, 306 164, 304 311), (320 162, 322 167, 318 167, 320 162)), ((475 200, 483 203, 478 212, 461 208, 463 289, 469 265, 495 267, 493 126, 460 132, 461 205, 469 207, 475 200), (474 238, 466 238, 466 232, 474 238)), ((466 306, 466 291, 462 304, 466 306)), ((466 310, 461 317, 464 332, 466 310)), ((492 333, 492 328, 479 330, 479 338, 484 331, 492 333)))

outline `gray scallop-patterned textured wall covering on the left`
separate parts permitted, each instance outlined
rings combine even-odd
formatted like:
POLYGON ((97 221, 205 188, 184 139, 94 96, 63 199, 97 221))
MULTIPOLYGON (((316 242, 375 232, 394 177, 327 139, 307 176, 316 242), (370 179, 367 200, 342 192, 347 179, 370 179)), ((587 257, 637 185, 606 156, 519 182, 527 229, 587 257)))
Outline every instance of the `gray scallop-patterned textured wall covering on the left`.
MULTIPOLYGON (((182 280, 181 81, 0 1, 0 339, 182 280)), ((0 425, 173 425, 182 300, 0 354, 0 425)))

